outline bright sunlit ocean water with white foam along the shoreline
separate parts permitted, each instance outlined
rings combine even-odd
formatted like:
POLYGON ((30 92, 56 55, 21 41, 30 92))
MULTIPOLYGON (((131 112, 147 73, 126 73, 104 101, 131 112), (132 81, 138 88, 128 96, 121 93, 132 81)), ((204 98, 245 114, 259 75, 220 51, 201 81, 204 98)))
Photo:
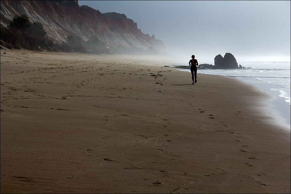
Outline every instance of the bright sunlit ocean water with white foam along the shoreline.
MULTIPOLYGON (((187 63, 177 63, 187 65, 187 63)), ((203 62, 200 64, 203 64, 203 62)), ((207 63, 214 64, 214 63, 207 63)), ((246 83, 253 84, 271 95, 278 95, 272 101, 271 111, 275 114, 278 123, 285 123, 291 130, 291 63, 288 60, 252 60, 238 63, 246 69, 235 70, 197 70, 197 73, 235 77, 246 83), (253 81, 253 80, 258 81, 253 81)), ((177 65, 175 65, 177 66, 177 65)), ((190 70, 183 70, 190 72, 190 70)), ((189 75, 191 82, 191 75, 189 75)))

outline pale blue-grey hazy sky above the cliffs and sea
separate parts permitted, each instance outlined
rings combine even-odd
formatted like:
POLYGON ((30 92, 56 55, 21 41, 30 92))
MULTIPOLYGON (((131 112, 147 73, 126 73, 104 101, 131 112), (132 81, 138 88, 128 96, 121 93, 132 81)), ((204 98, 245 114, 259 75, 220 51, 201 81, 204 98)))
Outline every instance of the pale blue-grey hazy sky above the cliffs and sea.
MULTIPOLYGON (((168 54, 214 63, 218 54, 240 60, 290 60, 291 1, 78 1, 101 13, 125 14, 168 54)), ((201 63, 201 64, 202 64, 201 63)))

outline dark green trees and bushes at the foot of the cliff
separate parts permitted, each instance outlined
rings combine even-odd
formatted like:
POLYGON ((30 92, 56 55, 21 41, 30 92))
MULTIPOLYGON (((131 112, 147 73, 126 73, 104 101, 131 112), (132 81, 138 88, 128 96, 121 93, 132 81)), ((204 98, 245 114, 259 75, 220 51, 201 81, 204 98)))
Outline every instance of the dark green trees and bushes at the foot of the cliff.
POLYGON ((109 53, 104 43, 96 36, 84 41, 80 36, 73 34, 67 37, 67 42, 61 45, 54 44, 54 41, 47 36, 43 25, 40 22, 31 23, 27 15, 15 16, 7 28, 1 26, 1 46, 8 49, 24 48, 37 51, 109 53))

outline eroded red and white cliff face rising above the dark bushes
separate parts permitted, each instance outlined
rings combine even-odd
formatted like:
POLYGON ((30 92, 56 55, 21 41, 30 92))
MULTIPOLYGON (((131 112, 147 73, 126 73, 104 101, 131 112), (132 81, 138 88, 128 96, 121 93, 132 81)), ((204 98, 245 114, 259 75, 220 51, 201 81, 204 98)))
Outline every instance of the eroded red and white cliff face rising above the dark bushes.
POLYGON ((56 44, 76 34, 89 40, 96 36, 111 53, 166 53, 166 47, 155 36, 143 34, 132 19, 108 17, 78 1, 1 1, 1 25, 7 26, 15 15, 26 14, 30 21, 40 22, 56 44))

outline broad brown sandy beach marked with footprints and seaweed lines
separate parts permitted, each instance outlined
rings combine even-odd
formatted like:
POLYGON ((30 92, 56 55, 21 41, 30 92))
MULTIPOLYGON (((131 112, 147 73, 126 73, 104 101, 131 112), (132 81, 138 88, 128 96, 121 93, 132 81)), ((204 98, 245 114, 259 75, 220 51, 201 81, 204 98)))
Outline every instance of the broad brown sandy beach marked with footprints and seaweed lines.
POLYGON ((1 193, 290 193, 269 97, 169 64, 1 50, 1 193))

